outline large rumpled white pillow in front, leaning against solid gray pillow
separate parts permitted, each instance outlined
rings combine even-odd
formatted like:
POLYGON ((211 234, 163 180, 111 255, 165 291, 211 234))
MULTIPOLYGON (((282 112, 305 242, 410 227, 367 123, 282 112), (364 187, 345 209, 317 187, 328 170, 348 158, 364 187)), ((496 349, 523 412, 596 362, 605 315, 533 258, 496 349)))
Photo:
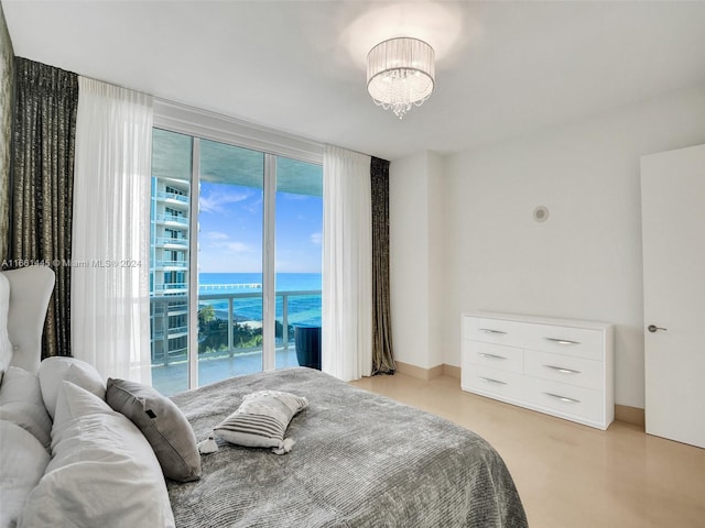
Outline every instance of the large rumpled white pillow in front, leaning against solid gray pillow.
POLYGON ((174 527, 162 469, 134 424, 69 382, 55 416, 52 461, 19 527, 174 527))

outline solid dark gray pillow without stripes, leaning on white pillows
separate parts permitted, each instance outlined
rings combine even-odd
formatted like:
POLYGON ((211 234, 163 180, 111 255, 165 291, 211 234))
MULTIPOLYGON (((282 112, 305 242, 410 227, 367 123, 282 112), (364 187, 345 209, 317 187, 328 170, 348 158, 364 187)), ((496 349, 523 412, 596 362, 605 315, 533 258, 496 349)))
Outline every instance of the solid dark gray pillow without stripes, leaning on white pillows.
POLYGON ((137 382, 108 378, 106 402, 142 431, 164 476, 189 482, 200 479, 200 454, 186 417, 169 398, 137 382))

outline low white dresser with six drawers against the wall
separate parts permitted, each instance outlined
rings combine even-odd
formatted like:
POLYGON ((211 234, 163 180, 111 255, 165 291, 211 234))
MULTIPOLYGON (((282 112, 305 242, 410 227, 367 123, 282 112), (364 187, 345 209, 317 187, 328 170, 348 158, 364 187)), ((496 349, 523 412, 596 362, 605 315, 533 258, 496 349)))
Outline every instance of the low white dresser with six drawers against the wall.
POLYGON ((614 326, 507 314, 462 316, 464 391, 607 429, 614 326))

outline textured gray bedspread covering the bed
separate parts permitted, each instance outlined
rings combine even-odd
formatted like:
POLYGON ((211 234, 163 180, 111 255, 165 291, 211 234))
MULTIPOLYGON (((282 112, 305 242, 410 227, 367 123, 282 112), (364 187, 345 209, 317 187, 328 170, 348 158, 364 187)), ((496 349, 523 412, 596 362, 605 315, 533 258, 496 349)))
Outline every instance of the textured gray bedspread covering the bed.
POLYGON ((318 371, 235 377, 173 400, 203 440, 264 388, 308 398, 286 431, 293 450, 218 440, 200 481, 169 483, 178 528, 527 526, 507 466, 480 437, 318 371))

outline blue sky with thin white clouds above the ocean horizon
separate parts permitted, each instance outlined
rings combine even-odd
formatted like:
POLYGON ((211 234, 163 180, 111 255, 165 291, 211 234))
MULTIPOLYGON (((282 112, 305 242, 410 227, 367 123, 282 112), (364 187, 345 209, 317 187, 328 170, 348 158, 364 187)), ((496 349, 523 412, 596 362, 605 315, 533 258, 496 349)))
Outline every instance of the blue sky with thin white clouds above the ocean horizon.
MULTIPOLYGON (((199 273, 262 271, 262 189, 200 183, 199 273)), ((278 193, 276 272, 321 273, 323 199, 278 193)))

